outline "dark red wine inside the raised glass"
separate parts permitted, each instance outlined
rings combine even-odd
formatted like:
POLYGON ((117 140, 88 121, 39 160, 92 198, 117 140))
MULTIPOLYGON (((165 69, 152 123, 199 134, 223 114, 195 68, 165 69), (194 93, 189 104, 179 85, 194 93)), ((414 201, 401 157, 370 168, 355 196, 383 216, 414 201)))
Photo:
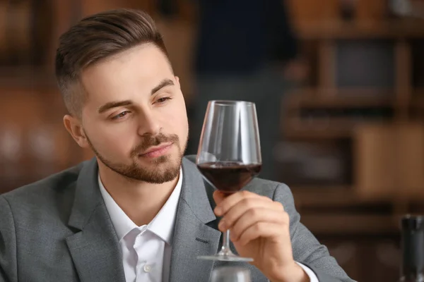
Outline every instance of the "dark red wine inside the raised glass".
POLYGON ((235 161, 218 161, 199 164, 204 177, 225 194, 241 190, 261 171, 261 164, 240 164, 235 161))

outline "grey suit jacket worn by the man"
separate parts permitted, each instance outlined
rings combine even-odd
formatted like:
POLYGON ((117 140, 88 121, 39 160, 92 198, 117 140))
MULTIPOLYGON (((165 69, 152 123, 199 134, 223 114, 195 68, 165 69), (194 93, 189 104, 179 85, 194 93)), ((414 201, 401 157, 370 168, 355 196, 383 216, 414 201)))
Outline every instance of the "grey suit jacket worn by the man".
MULTIPOLYGON (((223 264, 196 259, 215 254, 220 245, 213 188, 192 160, 184 158, 182 169, 170 281, 208 281, 212 269, 223 264)), ((0 195, 0 281, 125 281, 118 238, 97 175, 92 159, 0 195)), ((351 281, 300 223, 286 185, 255 179, 246 189, 284 205, 296 261, 315 271, 319 281, 351 281)), ((267 281, 254 266, 243 266, 251 270, 252 281, 267 281)))

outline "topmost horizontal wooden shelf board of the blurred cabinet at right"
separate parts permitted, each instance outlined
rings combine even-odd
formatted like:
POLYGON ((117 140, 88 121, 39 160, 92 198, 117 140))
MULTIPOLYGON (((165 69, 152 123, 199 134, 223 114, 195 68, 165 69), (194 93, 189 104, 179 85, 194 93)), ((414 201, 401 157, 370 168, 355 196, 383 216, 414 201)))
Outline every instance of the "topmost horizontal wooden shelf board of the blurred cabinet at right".
POLYGON ((297 31, 300 39, 414 38, 424 37, 424 20, 305 22, 298 24, 297 31))

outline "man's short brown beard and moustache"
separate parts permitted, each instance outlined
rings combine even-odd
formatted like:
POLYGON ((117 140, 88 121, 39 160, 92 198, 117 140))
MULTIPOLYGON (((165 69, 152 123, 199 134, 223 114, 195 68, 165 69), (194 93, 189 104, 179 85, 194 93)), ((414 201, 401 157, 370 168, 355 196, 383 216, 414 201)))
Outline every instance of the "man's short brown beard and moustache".
POLYGON ((161 184, 177 178, 179 169, 181 168, 182 157, 187 147, 186 142, 184 149, 181 148, 177 135, 163 135, 160 133, 155 136, 143 137, 142 142, 131 151, 132 163, 120 164, 108 159, 105 157, 105 154, 100 154, 98 149, 95 148, 88 138, 88 135, 86 135, 86 137, 95 156, 112 171, 124 176, 124 178, 128 180, 153 184, 161 184), (176 159, 172 159, 172 155, 165 155, 151 160, 148 165, 143 166, 139 163, 140 154, 145 152, 149 147, 158 146, 164 142, 172 142, 172 145, 177 146, 179 155, 176 159))

